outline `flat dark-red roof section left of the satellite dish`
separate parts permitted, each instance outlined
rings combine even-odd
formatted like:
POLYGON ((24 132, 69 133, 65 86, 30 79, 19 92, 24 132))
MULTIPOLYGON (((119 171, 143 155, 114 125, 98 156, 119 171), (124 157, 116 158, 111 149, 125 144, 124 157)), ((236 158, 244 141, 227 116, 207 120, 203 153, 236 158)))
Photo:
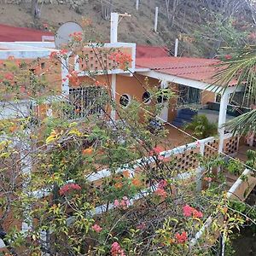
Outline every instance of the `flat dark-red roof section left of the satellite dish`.
POLYGON ((0 24, 0 42, 42 41, 42 36, 52 36, 51 32, 26 27, 15 27, 0 24))

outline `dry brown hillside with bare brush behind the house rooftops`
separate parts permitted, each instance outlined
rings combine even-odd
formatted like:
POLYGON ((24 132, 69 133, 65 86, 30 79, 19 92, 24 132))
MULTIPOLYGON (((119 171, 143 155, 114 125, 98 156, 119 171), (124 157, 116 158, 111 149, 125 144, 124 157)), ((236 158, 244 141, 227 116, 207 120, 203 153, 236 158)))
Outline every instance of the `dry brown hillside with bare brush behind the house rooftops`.
MULTIPOLYGON (((88 32, 88 38, 98 35, 97 38, 99 40, 109 40, 110 22, 109 20, 102 19, 102 3, 103 5, 108 4, 107 0, 82 1, 83 4, 80 4, 76 10, 72 8, 70 3, 47 4, 44 1, 43 6, 39 4, 41 9, 40 19, 34 19, 32 17, 30 3, 23 3, 26 1, 20 2, 19 4, 1 3, 0 23, 41 29, 44 29, 44 24, 46 23, 49 25, 50 30, 54 32, 63 22, 70 20, 81 22, 84 16, 90 18, 94 26, 93 30, 88 32)), ((73 2, 76 3, 79 1, 73 2)), ((113 0, 113 11, 131 14, 131 17, 125 17, 119 23, 119 41, 165 45, 170 49, 172 54, 174 40, 178 37, 181 39, 179 55, 212 55, 212 48, 215 47, 215 38, 210 38, 210 40, 200 39, 199 41, 198 39, 193 39, 198 33, 207 34, 210 32, 212 34, 206 27, 207 22, 212 20, 212 16, 209 16, 209 12, 205 11, 204 6, 200 6, 201 10, 199 10, 198 6, 189 5, 188 2, 191 1, 187 1, 186 5, 177 5, 175 19, 170 19, 169 12, 168 20, 166 1, 164 0, 141 0, 138 11, 135 8, 135 0, 113 0), (158 32, 154 32, 155 6, 159 6, 160 8, 158 32)), ((197 3, 198 1, 195 0, 194 2, 197 3)), ((218 10, 216 10, 216 13, 218 14, 218 10)), ((247 18, 247 20, 251 23, 249 30, 252 30, 252 19, 247 18)), ((240 37, 239 34, 238 37, 240 37)))

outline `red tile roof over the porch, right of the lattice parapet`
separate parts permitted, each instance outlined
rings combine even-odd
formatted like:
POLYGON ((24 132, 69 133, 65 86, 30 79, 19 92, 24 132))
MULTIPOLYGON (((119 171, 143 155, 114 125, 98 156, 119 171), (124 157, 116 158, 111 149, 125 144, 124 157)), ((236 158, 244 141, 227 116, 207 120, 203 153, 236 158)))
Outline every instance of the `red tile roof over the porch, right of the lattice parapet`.
MULTIPOLYGON (((157 58, 137 58, 138 68, 148 67, 159 73, 166 73, 183 79, 212 84, 212 76, 217 72, 216 64, 219 60, 189 58, 189 57, 157 57, 157 58)), ((236 84, 235 81, 230 85, 236 84)))

